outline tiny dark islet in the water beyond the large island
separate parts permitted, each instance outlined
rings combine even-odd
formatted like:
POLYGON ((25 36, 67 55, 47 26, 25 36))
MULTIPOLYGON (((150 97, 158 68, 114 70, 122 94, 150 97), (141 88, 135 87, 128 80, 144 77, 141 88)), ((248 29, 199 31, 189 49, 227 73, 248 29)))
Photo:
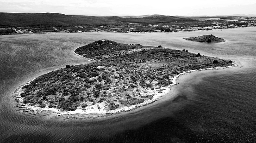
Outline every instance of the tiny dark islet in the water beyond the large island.
POLYGON ((183 38, 185 40, 189 41, 195 41, 195 42, 205 42, 205 43, 217 43, 217 42, 225 42, 224 39, 210 35, 203 35, 198 37, 189 37, 189 38, 183 38))

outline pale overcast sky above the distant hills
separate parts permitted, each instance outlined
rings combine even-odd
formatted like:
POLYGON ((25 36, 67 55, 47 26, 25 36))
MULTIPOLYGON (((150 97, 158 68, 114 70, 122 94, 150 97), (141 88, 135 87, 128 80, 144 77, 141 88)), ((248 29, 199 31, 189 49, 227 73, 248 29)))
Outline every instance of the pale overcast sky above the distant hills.
POLYGON ((256 14, 256 0, 0 0, 0 12, 122 16, 256 14))

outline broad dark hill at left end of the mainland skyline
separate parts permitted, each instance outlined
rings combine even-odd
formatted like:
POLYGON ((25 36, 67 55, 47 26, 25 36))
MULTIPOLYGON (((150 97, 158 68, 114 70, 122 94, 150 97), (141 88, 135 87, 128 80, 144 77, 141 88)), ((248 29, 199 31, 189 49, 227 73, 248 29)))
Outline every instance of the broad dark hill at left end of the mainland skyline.
POLYGON ((114 24, 106 17, 76 16, 59 13, 0 13, 0 26, 71 26, 114 24))

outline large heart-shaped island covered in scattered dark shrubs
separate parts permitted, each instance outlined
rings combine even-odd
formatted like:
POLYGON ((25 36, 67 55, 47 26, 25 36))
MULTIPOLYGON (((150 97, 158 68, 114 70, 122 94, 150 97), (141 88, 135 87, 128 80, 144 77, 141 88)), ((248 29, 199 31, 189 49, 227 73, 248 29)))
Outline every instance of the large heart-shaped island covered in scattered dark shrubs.
POLYGON ((20 88, 23 105, 81 114, 126 112, 156 101, 181 74, 234 66, 185 49, 112 40, 98 40, 74 52, 94 62, 66 65, 30 81, 20 88))

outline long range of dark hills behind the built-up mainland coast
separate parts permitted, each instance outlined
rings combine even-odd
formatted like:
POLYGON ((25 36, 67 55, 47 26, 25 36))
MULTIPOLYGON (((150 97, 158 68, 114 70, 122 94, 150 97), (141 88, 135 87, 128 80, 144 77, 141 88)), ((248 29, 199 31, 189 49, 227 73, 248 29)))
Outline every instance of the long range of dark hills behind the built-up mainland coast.
MULTIPOLYGON (((86 25, 119 25, 122 22, 166 23, 185 21, 189 18, 154 16, 142 18, 96 17, 65 15, 59 13, 4 13, 0 12, 0 26, 86 26, 86 25)), ((193 20, 192 20, 193 21, 193 20)))

